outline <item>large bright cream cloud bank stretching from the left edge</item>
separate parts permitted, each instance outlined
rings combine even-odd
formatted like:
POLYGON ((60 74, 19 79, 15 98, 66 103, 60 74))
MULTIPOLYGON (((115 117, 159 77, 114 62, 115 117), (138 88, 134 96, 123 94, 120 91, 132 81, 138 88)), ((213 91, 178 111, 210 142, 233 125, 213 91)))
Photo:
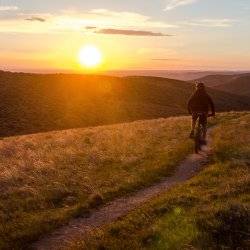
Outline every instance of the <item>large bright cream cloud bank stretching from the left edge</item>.
MULTIPOLYGON (((58 13, 18 13, 0 17, 0 32, 4 33, 82 33, 84 30, 94 30, 94 27, 107 30, 111 27, 121 30, 154 30, 177 28, 177 25, 154 20, 152 17, 136 12, 111 11, 93 9, 87 12, 60 11, 58 13), (42 18, 41 18, 42 17, 42 18), (34 24, 30 25, 30 22, 34 24), (46 24, 45 24, 46 21, 46 24)), ((106 31, 107 32, 107 31, 106 31)), ((110 31, 111 32, 111 31, 110 31)), ((163 35, 157 34, 138 35, 163 35)))

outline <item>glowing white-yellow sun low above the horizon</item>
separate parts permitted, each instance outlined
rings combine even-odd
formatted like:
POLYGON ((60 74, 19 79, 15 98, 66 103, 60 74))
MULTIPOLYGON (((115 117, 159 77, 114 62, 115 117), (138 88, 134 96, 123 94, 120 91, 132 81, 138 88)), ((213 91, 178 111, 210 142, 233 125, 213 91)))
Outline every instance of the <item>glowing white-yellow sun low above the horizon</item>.
POLYGON ((79 61, 86 68, 96 68, 102 62, 102 53, 95 46, 84 46, 79 51, 79 61))

